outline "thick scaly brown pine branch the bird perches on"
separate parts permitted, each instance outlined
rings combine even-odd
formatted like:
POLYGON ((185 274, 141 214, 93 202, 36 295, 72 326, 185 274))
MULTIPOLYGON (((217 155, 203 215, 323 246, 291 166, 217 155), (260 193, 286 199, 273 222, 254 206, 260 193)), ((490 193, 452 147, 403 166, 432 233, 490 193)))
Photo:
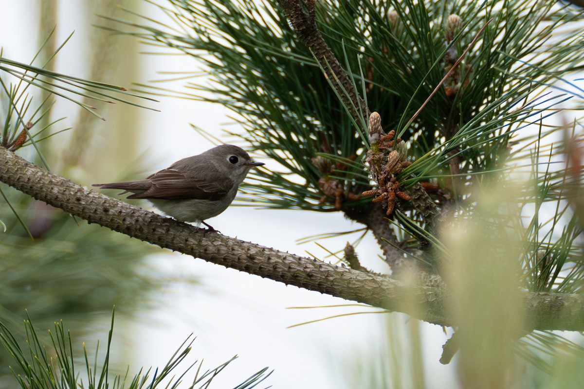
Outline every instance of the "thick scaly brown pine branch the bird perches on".
MULTIPOLYGON (((0 148, 0 181, 89 223, 160 247, 286 285, 404 312, 429 323, 455 324, 444 309, 448 299, 444 289, 405 285, 208 233, 81 187, 5 148, 0 148)), ((524 299, 526 323, 531 330, 584 331, 584 295, 526 293, 524 299)))

